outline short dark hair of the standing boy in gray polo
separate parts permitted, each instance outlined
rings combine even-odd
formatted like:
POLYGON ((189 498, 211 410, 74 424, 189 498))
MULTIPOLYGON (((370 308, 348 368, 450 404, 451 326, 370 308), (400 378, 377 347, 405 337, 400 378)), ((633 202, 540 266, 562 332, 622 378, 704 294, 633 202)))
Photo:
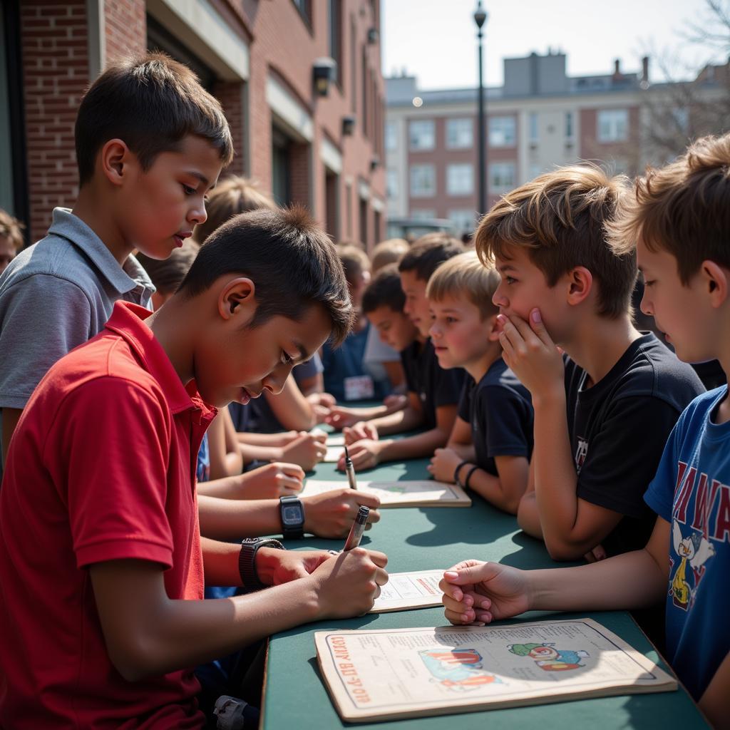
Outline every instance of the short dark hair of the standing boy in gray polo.
POLYGON ((147 170, 191 134, 210 142, 224 165, 231 162, 233 140, 220 103, 191 69, 159 52, 127 58, 104 71, 81 100, 79 185, 91 180, 96 155, 110 139, 123 139, 147 170))

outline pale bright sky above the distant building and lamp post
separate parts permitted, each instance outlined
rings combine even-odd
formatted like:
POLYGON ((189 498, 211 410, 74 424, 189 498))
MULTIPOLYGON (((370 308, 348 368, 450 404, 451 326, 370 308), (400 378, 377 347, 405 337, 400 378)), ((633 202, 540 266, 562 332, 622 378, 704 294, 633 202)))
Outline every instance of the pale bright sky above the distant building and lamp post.
MULTIPOLYGON (((475 86, 476 7, 477 0, 381 0, 383 75, 406 69, 423 89, 475 86)), ((612 72, 615 58, 623 71, 638 71, 651 49, 682 49, 696 67, 712 55, 680 36, 688 20, 705 17, 704 0, 486 0, 483 7, 489 86, 502 84, 502 58, 548 47, 566 53, 570 76, 612 72)), ((660 75, 653 64, 650 77, 660 75)))

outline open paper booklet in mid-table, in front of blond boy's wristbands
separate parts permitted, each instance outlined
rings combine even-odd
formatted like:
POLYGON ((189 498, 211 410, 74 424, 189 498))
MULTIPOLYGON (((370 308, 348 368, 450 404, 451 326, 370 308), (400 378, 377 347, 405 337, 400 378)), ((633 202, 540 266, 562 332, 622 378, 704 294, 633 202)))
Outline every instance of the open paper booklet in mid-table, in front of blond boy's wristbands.
MULTIPOLYGON (((347 486, 347 480, 325 482, 307 479, 297 496, 312 496, 347 486)), ((358 480, 358 491, 377 494, 381 507, 470 507, 472 499, 456 484, 430 479, 401 482, 358 480)))

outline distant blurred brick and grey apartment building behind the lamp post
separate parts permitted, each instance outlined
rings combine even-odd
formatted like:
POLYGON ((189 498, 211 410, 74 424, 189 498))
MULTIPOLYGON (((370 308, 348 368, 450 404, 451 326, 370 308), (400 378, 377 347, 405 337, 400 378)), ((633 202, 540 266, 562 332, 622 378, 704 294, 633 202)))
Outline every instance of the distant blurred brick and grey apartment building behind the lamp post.
MULTIPOLYGON (((729 69, 704 69, 691 87, 694 98, 710 107, 720 99, 728 104, 729 69)), ((385 83, 388 218, 450 219, 457 233, 472 231, 477 91, 420 91, 405 75, 385 83)), ((558 165, 591 160, 635 175, 648 162, 664 162, 667 150, 653 144, 664 126, 678 139, 674 154, 689 137, 723 131, 693 115, 683 101, 688 87, 679 86, 651 84, 648 58, 638 73, 622 72, 616 61, 611 73, 590 77, 568 77, 563 53, 505 59, 504 85, 485 90, 488 207, 558 165)))

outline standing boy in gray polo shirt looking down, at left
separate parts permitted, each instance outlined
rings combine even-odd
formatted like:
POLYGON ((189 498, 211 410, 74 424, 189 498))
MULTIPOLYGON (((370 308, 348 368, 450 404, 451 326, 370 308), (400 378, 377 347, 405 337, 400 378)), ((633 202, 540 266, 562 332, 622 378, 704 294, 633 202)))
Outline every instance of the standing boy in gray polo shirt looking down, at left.
POLYGON ((97 334, 118 299, 150 307, 131 255, 166 258, 206 218, 204 196, 231 161, 220 104, 161 53, 110 66, 76 120, 79 196, 0 277, 2 454, 55 361, 97 334))

